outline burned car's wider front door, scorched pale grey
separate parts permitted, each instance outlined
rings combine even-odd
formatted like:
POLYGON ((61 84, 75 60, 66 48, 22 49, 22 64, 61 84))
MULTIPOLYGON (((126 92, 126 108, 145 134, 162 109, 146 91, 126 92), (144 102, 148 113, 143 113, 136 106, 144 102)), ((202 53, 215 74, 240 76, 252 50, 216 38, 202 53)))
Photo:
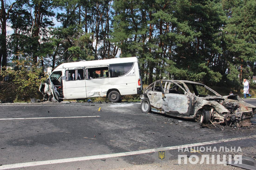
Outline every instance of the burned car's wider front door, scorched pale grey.
POLYGON ((168 82, 162 100, 162 113, 176 117, 189 116, 192 100, 181 85, 168 82))

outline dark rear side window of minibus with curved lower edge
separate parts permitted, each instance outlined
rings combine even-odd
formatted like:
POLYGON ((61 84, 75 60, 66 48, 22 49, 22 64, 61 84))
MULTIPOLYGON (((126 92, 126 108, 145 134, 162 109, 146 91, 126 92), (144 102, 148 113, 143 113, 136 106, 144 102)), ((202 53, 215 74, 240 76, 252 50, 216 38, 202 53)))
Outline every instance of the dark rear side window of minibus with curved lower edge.
POLYGON ((121 77, 129 73, 133 68, 132 63, 109 64, 110 77, 121 77))

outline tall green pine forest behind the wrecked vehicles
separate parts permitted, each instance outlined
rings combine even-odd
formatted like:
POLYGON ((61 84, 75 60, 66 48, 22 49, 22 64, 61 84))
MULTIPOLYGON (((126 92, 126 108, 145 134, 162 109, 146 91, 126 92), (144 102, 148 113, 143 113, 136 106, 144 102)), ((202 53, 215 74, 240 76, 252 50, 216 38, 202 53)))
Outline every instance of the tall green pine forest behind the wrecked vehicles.
POLYGON ((81 60, 137 57, 143 84, 237 93, 256 75, 255 0, 1 0, 0 20, 2 99, 33 97, 45 68, 81 60))

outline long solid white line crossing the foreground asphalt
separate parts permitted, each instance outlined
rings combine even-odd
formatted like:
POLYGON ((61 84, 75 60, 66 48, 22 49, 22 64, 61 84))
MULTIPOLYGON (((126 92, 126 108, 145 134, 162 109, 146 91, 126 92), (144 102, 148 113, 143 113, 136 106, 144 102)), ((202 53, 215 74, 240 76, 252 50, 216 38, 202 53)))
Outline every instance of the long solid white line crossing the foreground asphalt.
POLYGON ((147 154, 147 153, 153 153, 153 152, 157 152, 157 151, 161 151, 161 150, 174 150, 174 149, 194 147, 194 146, 232 142, 232 141, 238 141, 238 140, 250 139, 250 138, 256 138, 256 135, 247 136, 247 137, 235 137, 235 138, 229 138, 229 139, 220 139, 220 140, 216 140, 216 141, 170 146, 170 147, 163 147, 163 148, 156 148, 156 149, 137 150, 137 151, 123 152, 123 153, 115 153, 115 154, 105 154, 105 155, 94 155, 94 156, 85 156, 85 157, 77 157, 77 158, 66 158, 66 159, 36 161, 36 162, 15 163, 15 164, 10 164, 10 165, 2 165, 2 166, 0 166, 0 170, 11 169, 11 168, 32 167, 32 166, 38 166, 38 165, 50 165, 50 164, 55 164, 55 163, 66 163, 66 162, 113 158, 113 157, 130 156, 130 155, 138 155, 138 154, 147 154))

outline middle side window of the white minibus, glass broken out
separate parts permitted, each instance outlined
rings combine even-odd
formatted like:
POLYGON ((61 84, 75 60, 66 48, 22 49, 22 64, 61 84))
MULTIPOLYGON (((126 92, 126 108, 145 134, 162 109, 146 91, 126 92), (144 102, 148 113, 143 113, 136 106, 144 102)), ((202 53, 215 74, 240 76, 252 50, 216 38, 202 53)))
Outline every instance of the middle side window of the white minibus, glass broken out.
POLYGON ((107 66, 86 69, 86 79, 108 78, 108 77, 109 77, 109 68, 107 66))

